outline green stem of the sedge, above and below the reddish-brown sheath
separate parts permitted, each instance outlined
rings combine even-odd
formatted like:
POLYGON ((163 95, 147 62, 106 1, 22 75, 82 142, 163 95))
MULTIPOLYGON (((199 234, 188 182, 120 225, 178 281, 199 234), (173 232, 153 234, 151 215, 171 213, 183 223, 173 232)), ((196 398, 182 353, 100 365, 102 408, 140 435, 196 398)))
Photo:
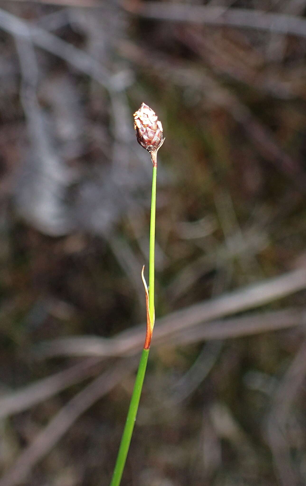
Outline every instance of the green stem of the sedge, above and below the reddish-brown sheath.
MULTIPOLYGON (((154 159, 155 163, 153 162, 153 157, 152 157, 153 176, 152 176, 150 253, 149 253, 149 314, 152 323, 154 323, 154 249, 155 249, 155 209, 156 209, 156 172, 157 172, 156 153, 154 155, 155 155, 155 159, 154 159)), ((119 486, 121 482, 123 470, 126 464, 126 456, 129 449, 131 437, 133 434, 134 425, 135 425, 139 400, 143 388, 144 375, 146 370, 146 364, 148 361, 149 351, 150 351, 149 347, 147 349, 143 349, 140 358, 135 385, 132 393, 132 398, 127 412, 126 425, 122 434, 120 448, 118 451, 117 461, 110 482, 110 486, 119 486)))

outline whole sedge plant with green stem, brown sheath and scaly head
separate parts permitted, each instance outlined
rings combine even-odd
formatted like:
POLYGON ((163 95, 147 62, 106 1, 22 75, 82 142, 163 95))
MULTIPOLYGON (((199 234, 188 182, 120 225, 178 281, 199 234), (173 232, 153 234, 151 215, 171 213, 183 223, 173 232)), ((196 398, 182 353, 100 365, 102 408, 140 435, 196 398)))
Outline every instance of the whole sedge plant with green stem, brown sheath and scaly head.
POLYGON ((119 486, 126 464, 126 456, 129 449, 136 420, 139 400, 144 383, 146 364, 148 361, 150 344, 152 339, 155 311, 154 311, 154 249, 155 249, 155 210, 156 210, 156 173, 157 173, 157 152, 161 148, 164 139, 162 138, 162 123, 157 119, 155 112, 146 104, 142 104, 139 110, 134 113, 134 128, 138 143, 149 152, 153 163, 152 175, 152 199, 150 218, 150 248, 149 248, 149 288, 144 279, 144 266, 142 279, 145 289, 146 300, 146 335, 144 349, 140 358, 135 385, 126 417, 126 424, 122 434, 117 460, 110 482, 110 486, 119 486))

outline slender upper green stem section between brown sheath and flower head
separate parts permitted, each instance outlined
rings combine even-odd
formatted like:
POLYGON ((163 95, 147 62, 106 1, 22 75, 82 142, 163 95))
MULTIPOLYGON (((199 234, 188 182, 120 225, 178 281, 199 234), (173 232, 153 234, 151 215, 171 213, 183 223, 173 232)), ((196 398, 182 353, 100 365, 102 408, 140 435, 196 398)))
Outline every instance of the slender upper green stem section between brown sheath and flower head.
POLYGON ((155 211, 156 211, 156 172, 157 165, 153 166, 152 199, 150 221, 150 254, 149 254, 149 311, 151 322, 154 322, 154 251, 155 251, 155 211))

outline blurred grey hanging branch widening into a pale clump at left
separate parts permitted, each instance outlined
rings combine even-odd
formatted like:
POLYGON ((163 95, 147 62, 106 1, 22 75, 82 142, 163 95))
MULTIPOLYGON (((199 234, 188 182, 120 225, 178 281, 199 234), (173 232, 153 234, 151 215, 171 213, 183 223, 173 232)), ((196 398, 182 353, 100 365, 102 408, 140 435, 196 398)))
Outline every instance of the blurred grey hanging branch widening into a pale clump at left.
POLYGON ((72 173, 55 148, 48 119, 37 99, 39 69, 31 36, 15 38, 21 70, 20 100, 31 140, 16 183, 18 211, 46 234, 62 236, 73 227, 63 203, 72 173))

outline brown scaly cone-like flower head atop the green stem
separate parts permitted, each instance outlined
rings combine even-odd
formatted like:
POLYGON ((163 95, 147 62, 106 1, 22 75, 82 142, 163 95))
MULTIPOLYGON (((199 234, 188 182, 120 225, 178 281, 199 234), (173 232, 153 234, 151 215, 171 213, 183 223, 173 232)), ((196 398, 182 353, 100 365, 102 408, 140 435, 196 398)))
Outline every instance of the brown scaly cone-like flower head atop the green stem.
POLYGON ((134 113, 134 128, 138 143, 148 152, 157 152, 162 146, 162 123, 147 104, 134 113))

